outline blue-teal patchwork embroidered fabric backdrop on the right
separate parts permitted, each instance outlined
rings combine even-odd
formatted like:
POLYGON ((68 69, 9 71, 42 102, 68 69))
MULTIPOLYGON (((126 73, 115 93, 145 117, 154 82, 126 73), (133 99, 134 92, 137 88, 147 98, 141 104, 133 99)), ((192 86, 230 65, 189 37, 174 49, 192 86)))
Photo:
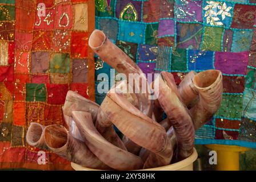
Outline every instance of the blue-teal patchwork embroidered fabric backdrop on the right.
MULTIPOLYGON (((96 28, 144 73, 172 72, 177 84, 187 72, 219 69, 223 102, 196 132, 197 144, 256 148, 255 0, 96 0, 96 28)), ((97 75, 110 67, 98 57, 97 75)), ((105 94, 95 93, 100 104, 105 94)))

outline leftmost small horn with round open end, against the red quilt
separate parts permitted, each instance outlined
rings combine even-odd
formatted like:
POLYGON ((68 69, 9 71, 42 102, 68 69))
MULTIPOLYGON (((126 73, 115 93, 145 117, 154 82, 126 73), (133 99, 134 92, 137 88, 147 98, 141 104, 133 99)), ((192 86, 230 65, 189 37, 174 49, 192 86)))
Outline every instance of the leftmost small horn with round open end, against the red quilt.
POLYGON ((46 148, 43 130, 45 130, 45 126, 39 123, 30 123, 26 134, 26 142, 33 147, 46 148))

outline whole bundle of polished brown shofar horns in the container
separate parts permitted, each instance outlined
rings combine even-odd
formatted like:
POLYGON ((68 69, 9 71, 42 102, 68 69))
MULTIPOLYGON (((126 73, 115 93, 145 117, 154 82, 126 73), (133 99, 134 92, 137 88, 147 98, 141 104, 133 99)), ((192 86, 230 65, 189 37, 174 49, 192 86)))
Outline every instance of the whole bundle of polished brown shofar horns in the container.
MULTIPOLYGON (((102 31, 91 34, 89 46, 118 73, 127 77, 129 73, 142 73, 102 31)), ((62 107, 67 129, 31 123, 27 143, 94 169, 131 170, 179 162, 193 152, 195 130, 221 105, 222 73, 191 71, 178 87, 168 72, 161 72, 156 80, 157 100, 149 100, 149 93, 122 93, 126 80, 110 89, 101 106, 69 91, 62 107), (161 121, 164 112, 167 119, 161 121), (113 125, 123 133, 123 139, 113 125)), ((137 82, 132 89, 136 87, 141 84, 137 82)))

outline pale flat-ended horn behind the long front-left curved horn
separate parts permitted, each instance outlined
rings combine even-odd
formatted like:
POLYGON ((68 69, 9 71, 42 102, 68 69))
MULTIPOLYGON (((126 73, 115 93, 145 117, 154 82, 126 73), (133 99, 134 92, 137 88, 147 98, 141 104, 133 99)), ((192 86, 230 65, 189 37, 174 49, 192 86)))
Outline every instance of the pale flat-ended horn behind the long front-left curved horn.
POLYGON ((88 100, 74 91, 69 90, 69 92, 67 92, 65 104, 63 106, 63 114, 71 117, 73 110, 85 111, 91 113, 91 117, 93 117, 93 121, 95 122, 98 109, 99 105, 95 102, 88 100))

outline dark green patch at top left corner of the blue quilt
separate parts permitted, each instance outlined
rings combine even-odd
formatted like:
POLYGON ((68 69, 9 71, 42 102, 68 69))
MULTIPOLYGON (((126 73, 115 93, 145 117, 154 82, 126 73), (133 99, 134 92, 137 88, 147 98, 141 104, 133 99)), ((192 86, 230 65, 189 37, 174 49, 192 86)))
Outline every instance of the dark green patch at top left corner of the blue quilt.
POLYGON ((110 1, 107 5, 106 0, 95 0, 95 15, 114 17, 115 1, 110 1))

